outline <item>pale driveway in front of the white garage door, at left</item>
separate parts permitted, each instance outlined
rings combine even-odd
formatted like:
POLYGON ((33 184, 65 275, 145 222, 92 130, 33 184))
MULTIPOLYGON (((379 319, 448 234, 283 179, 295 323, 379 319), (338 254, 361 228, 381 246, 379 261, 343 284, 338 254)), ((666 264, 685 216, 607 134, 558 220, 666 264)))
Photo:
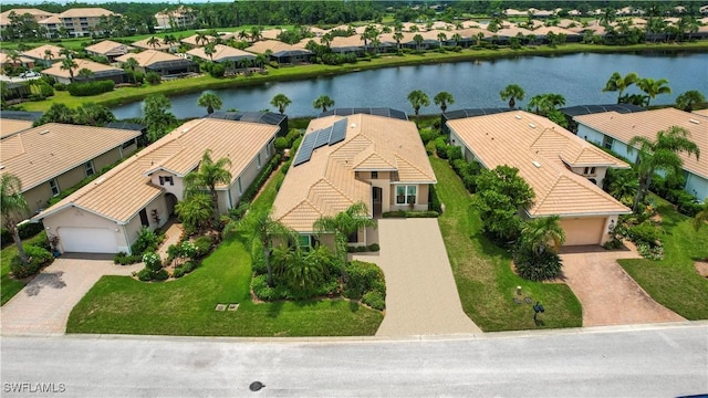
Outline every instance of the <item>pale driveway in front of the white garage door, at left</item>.
POLYGON ((0 308, 2 334, 63 334, 69 314, 103 275, 129 275, 143 264, 115 265, 101 256, 62 256, 0 308))

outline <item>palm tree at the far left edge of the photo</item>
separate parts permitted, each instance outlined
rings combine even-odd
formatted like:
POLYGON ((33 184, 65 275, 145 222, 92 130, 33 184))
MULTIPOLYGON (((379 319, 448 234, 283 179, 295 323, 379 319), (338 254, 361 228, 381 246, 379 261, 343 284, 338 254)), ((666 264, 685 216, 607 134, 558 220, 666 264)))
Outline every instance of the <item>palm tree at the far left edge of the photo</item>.
POLYGON ((2 226, 12 233, 12 240, 18 247, 18 255, 23 264, 27 264, 27 254, 24 253, 24 248, 22 248, 15 217, 23 218, 28 211, 29 207, 22 195, 22 181, 15 175, 3 172, 2 177, 0 177, 2 226))

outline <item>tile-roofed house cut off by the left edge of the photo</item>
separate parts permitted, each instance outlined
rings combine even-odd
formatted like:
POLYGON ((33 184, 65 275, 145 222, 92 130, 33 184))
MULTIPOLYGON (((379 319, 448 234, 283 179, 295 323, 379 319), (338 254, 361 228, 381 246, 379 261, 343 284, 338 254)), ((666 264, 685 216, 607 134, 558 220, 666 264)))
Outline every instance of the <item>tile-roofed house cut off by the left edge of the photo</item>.
MULTIPOLYGON (((4 129, 4 128, 3 128, 4 129)), ((22 181, 30 211, 133 154, 140 132, 50 123, 2 137, 0 172, 22 181)))

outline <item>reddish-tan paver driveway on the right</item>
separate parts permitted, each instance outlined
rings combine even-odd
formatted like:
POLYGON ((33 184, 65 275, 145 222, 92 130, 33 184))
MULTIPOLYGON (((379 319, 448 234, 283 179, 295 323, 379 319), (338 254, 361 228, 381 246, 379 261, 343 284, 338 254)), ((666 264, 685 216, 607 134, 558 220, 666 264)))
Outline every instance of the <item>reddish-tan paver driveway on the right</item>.
POLYGON ((686 321, 655 302, 617 259, 638 259, 634 247, 606 251, 600 247, 561 251, 565 282, 583 305, 583 326, 686 321))

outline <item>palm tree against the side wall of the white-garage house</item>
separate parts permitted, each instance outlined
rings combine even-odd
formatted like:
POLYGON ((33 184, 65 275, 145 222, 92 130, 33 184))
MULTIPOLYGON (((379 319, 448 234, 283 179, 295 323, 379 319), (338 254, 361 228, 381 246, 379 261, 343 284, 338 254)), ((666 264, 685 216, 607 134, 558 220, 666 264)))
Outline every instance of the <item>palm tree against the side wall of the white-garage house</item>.
POLYGON ((231 166, 229 158, 211 160, 211 149, 206 149, 201 156, 199 170, 194 170, 185 176, 185 197, 195 192, 208 192, 211 195, 214 206, 214 227, 219 226, 219 195, 216 186, 231 182, 231 172, 227 167, 231 166))

